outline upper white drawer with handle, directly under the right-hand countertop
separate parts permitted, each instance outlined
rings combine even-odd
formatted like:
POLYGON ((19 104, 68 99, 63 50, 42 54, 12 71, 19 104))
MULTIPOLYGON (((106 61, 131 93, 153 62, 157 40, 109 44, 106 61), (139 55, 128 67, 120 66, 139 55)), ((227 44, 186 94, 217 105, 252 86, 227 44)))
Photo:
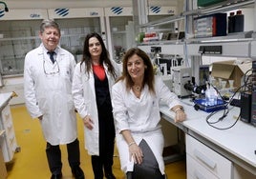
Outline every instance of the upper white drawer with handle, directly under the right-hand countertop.
POLYGON ((187 134, 186 153, 218 178, 231 179, 231 161, 187 134))

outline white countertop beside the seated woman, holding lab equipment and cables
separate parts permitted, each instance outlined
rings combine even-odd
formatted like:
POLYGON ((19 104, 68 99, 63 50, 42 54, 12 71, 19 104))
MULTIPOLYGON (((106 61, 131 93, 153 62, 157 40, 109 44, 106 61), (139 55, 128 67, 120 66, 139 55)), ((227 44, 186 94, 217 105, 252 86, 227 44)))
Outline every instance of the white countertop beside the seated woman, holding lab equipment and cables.
MULTIPOLYGON (((173 121, 174 112, 169 111, 167 107, 160 107, 163 118, 173 123, 179 128, 183 129, 186 133, 194 133, 194 137, 203 143, 217 149, 225 157, 229 158, 242 167, 248 167, 248 170, 256 174, 256 128, 246 124, 243 121, 238 121, 231 129, 215 129, 206 123, 206 117, 210 114, 203 110, 195 110, 193 103, 184 100, 183 107, 187 114, 187 120, 182 124, 175 124, 173 121), (180 125, 180 126, 179 126, 180 125), (229 156, 228 153, 230 153, 229 156)), ((222 116, 224 110, 220 110, 217 114, 210 118, 210 121, 216 121, 222 116)), ((236 118, 240 112, 239 108, 231 107, 224 120, 218 122, 216 127, 227 128, 235 123, 236 118)))

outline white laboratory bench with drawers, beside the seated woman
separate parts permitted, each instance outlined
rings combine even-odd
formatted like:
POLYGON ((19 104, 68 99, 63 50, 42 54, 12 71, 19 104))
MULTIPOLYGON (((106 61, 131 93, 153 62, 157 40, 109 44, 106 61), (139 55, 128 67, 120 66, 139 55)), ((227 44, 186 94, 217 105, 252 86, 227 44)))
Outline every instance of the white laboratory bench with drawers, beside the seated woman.
POLYGON ((236 123, 239 108, 229 106, 223 120, 219 118, 224 109, 212 115, 208 122, 214 128, 206 122, 210 112, 194 109, 189 99, 181 99, 181 104, 187 114, 182 123, 174 122, 175 113, 167 106, 160 106, 160 113, 161 118, 181 129, 185 135, 188 179, 256 177, 256 128, 240 120, 236 123))

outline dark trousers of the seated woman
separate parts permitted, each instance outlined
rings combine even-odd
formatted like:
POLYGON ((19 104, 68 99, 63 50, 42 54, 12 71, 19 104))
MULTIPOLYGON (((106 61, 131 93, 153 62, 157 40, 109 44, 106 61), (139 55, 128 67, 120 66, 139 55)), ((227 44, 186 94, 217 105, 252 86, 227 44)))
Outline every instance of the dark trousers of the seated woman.
POLYGON ((143 152, 143 162, 134 165, 134 171, 126 173, 127 179, 164 179, 161 174, 157 159, 146 141, 142 140, 139 148, 143 152))

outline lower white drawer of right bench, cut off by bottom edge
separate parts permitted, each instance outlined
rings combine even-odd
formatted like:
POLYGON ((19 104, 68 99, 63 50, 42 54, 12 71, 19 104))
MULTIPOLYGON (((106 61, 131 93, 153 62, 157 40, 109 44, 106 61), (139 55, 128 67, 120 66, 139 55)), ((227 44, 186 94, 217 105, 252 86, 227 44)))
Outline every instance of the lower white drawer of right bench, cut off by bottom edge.
POLYGON ((188 154, 186 155, 186 174, 187 179, 218 179, 188 154))

